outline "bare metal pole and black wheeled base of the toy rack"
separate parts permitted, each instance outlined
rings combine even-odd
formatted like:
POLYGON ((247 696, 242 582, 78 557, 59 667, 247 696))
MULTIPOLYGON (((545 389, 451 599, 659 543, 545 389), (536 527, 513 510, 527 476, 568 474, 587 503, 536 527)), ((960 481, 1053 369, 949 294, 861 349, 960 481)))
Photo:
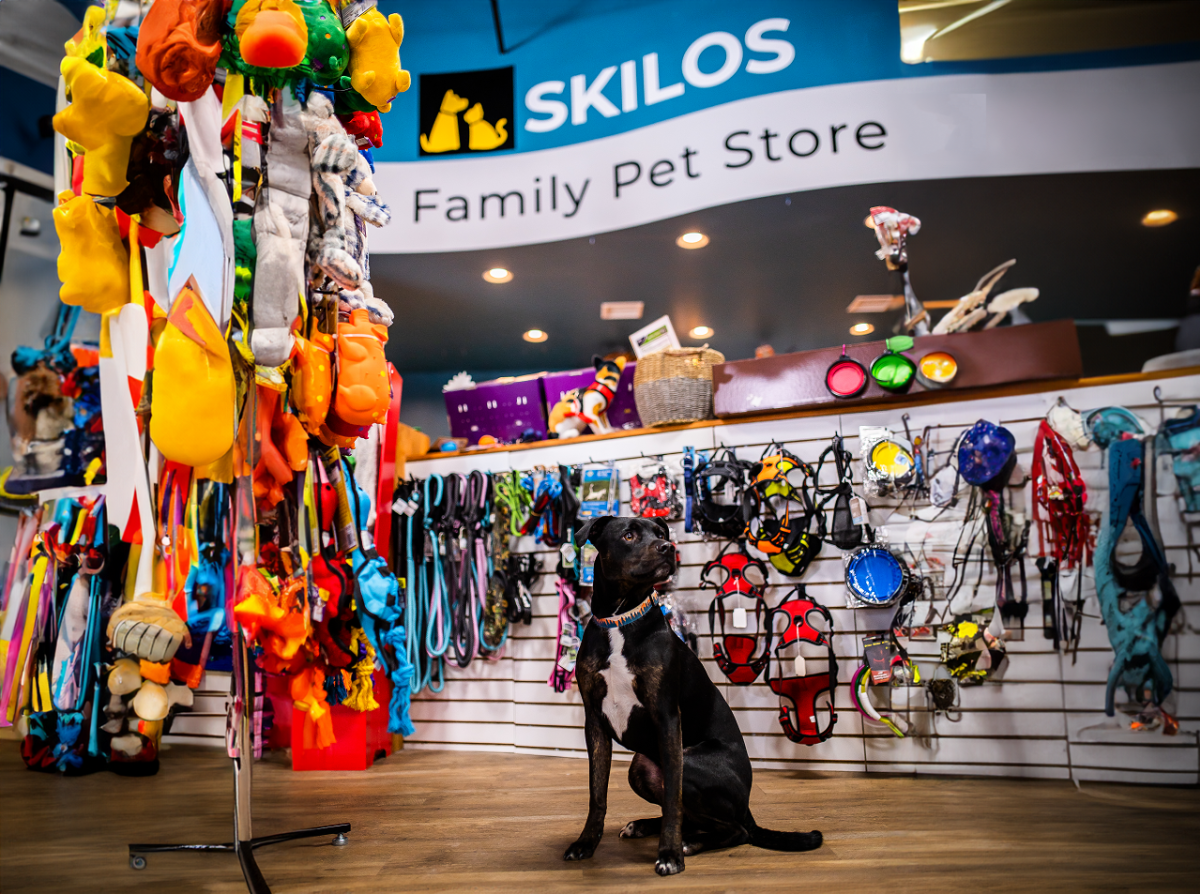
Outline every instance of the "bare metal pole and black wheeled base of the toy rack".
MULTIPOLYGON (((301 838, 320 838, 322 835, 334 835, 334 845, 348 844, 346 833, 350 830, 349 823, 334 823, 331 826, 317 826, 311 829, 296 829, 295 832, 283 832, 278 835, 264 835, 254 838, 251 832, 251 776, 254 766, 253 724, 250 716, 253 704, 253 684, 250 673, 250 655, 246 649, 246 641, 242 638, 240 625, 236 625, 236 648, 241 658, 241 722, 238 725, 238 754, 233 758, 233 796, 234 816, 233 830, 234 842, 224 845, 130 845, 130 866, 133 869, 145 869, 148 853, 164 853, 167 851, 190 851, 199 853, 236 853, 241 864, 241 874, 246 878, 246 888, 250 894, 271 894, 263 872, 254 862, 254 851, 266 845, 277 845, 281 841, 295 841, 301 838)), ((238 674, 233 674, 236 686, 238 674)), ((236 695, 236 694, 235 694, 236 695)))

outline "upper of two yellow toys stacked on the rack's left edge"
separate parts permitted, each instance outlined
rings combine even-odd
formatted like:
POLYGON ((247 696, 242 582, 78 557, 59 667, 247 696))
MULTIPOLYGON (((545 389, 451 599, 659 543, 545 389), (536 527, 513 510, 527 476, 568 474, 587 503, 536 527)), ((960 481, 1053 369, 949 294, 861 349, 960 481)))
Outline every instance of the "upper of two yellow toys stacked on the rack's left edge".
POLYGON ((71 104, 54 116, 54 130, 88 150, 83 191, 116 196, 130 181, 130 145, 150 115, 150 101, 122 74, 103 71, 79 56, 61 65, 71 104))

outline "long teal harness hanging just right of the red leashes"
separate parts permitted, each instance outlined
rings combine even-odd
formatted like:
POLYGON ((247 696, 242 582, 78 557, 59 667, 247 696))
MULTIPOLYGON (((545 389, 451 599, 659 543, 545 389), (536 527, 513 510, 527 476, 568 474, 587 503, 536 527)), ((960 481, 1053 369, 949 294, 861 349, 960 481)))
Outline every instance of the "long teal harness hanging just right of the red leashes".
POLYGON ((1096 544, 1096 595, 1109 630, 1109 642, 1116 653, 1104 694, 1104 713, 1109 716, 1114 714, 1112 694, 1118 683, 1132 698, 1139 701, 1141 694, 1150 689, 1154 704, 1160 704, 1174 685, 1162 644, 1180 608, 1180 598, 1170 580, 1166 554, 1142 511, 1142 443, 1134 438, 1109 444, 1109 516, 1096 544), (1121 610, 1124 590, 1117 575, 1122 570, 1116 568, 1114 550, 1127 521, 1133 523, 1141 539, 1142 552, 1153 566, 1152 572, 1160 589, 1157 607, 1142 599, 1127 611, 1121 610))

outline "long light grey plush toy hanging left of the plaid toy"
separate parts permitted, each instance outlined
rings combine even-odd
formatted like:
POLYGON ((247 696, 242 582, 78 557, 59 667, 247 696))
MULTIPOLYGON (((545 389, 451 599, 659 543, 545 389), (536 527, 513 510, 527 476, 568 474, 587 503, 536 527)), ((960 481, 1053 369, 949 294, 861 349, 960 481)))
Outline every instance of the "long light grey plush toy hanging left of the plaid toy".
POLYGON ((260 366, 280 366, 292 352, 292 322, 305 288, 311 192, 308 134, 300 106, 281 98, 271 115, 266 187, 254 209, 254 332, 250 346, 260 366))

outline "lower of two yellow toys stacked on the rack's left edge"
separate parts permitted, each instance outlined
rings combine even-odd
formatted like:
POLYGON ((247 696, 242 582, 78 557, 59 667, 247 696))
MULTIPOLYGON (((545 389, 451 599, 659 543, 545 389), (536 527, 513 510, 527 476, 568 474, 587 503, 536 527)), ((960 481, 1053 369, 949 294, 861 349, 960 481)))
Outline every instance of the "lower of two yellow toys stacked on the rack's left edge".
POLYGON ((130 300, 130 256, 113 209, 90 196, 64 192, 54 209, 59 234, 59 298, 89 313, 115 311, 130 300))

